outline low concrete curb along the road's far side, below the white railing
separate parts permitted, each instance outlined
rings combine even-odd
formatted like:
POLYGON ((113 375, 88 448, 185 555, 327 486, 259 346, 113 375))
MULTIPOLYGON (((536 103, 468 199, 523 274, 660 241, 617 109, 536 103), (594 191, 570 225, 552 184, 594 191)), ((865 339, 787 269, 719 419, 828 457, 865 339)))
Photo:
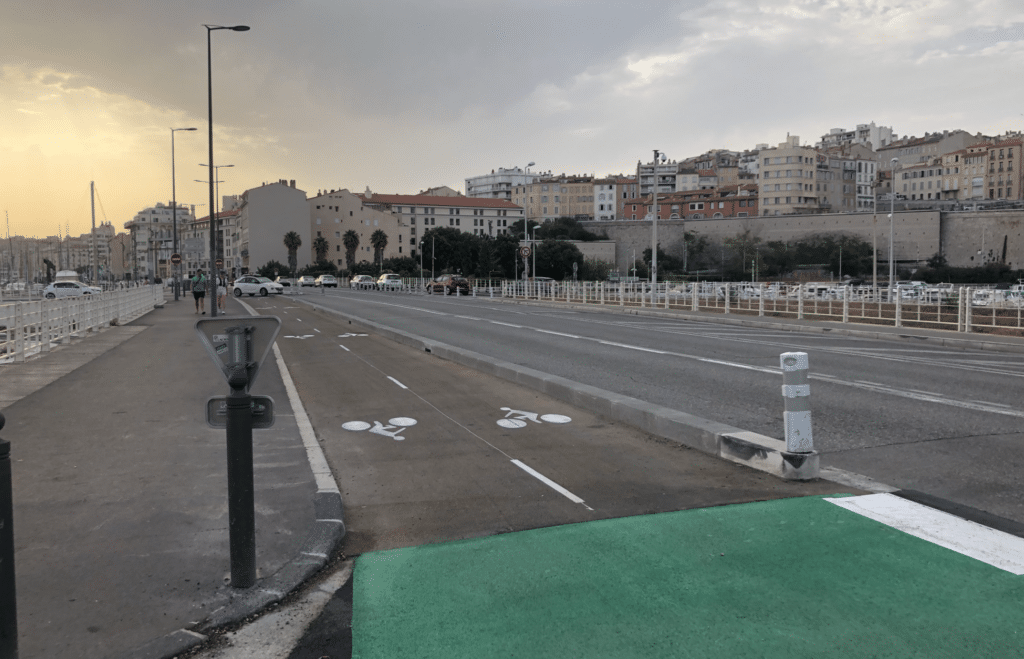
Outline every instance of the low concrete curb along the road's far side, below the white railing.
MULTIPOLYGON (((724 313, 708 313, 708 312, 693 312, 693 311, 658 311, 657 309, 644 309, 640 307, 617 307, 615 305, 592 305, 592 304, 579 304, 579 303, 560 303, 560 302, 544 302, 537 300, 506 300, 504 298, 495 298, 493 302, 498 302, 501 304, 514 304, 514 305, 526 305, 531 307, 556 307, 560 309, 573 309, 580 311, 606 311, 610 313, 622 313, 626 315, 635 316, 651 316, 655 318, 683 318, 686 320, 710 320, 721 324, 739 325, 743 327, 760 327, 763 330, 781 330, 785 332, 804 332, 809 334, 837 334, 847 337, 858 337, 863 339, 878 339, 878 340, 904 340, 904 341, 927 341, 929 343, 937 343, 940 346, 946 348, 961 348, 964 350, 985 350, 988 352, 1013 352, 1013 353, 1024 353, 1024 341, 1019 339, 1011 339, 1008 341, 984 341, 981 338, 974 339, 959 339, 956 337, 935 337, 930 335, 920 335, 920 334, 908 334, 908 328, 906 327, 892 327, 891 332, 878 332, 872 331, 867 327, 871 325, 865 324, 864 330, 854 330, 845 325, 836 325, 835 323, 825 324, 827 320, 815 321, 821 324, 814 325, 801 325, 801 324, 791 324, 786 322, 771 322, 769 320, 755 320, 752 318, 758 318, 763 316, 733 316, 731 314, 724 313), (1013 343, 1011 343, 1013 341, 1013 343)), ((888 326, 888 325, 886 325, 888 326)), ((932 330, 931 332, 941 332, 939 330, 932 330)), ((978 337, 979 335, 974 335, 978 337)))

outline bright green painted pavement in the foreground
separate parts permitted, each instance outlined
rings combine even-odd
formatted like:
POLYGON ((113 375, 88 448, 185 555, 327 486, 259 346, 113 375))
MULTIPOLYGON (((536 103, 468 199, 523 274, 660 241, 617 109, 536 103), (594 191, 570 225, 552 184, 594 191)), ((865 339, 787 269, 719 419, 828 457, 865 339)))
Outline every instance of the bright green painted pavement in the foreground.
POLYGON ((1024 576, 826 498, 366 554, 352 656, 1024 656, 1024 576))

